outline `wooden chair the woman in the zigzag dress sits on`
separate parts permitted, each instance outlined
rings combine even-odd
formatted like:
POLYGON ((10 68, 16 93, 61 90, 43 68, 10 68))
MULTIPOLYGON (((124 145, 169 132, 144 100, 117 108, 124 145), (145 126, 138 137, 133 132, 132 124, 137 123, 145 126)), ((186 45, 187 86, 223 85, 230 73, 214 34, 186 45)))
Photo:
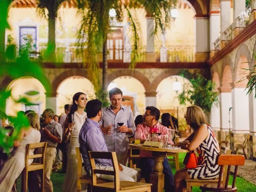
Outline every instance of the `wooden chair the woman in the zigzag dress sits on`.
MULTIPOLYGON (((224 154, 231 154, 231 150, 226 147, 224 154)), ((223 178, 226 180, 227 176, 227 166, 224 166, 223 170, 223 178)), ((187 183, 187 192, 192 192, 193 186, 201 186, 203 184, 216 184, 218 183, 218 179, 186 179, 187 183)))

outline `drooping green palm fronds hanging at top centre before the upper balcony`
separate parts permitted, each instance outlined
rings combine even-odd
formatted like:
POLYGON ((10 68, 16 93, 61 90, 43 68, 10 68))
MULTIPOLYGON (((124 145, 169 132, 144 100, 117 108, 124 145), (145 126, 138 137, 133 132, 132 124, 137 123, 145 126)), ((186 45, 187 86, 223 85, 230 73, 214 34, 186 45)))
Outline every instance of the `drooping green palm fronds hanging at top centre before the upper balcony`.
MULTIPOLYGON (((175 6, 176 0, 79 0, 78 12, 82 15, 82 24, 78 32, 78 45, 82 50, 82 54, 85 56, 84 65, 88 68, 88 74, 94 84, 94 88, 100 89, 99 79, 99 64, 97 60, 98 53, 103 48, 103 65, 107 65, 106 61, 106 44, 107 34, 110 29, 110 9, 114 9, 116 12, 116 21, 123 22, 124 18, 127 18, 127 22, 130 23, 130 30, 132 32, 132 52, 130 68, 134 68, 136 61, 139 58, 139 24, 136 17, 132 14, 132 10, 135 8, 144 7, 147 14, 151 15, 155 20, 154 33, 157 34, 158 30, 164 30, 164 27, 170 25, 170 10, 175 6), (124 17, 126 16, 126 17, 124 17)), ((102 67, 104 68, 104 66, 102 67)), ((103 73, 106 73, 104 70, 103 73)), ((104 87, 103 75, 102 84, 104 87)))

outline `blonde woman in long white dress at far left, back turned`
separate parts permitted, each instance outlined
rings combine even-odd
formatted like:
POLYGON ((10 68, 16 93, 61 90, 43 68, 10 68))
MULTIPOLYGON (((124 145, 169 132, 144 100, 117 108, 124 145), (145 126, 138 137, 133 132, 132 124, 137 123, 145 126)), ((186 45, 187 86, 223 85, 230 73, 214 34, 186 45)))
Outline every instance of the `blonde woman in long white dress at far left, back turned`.
MULTIPOLYGON (((13 185, 25 167, 26 145, 40 142, 41 134, 39 132, 40 122, 38 114, 34 112, 29 113, 27 117, 30 121, 30 126, 21 130, 18 140, 14 141, 14 149, 0 172, 0 192, 16 191, 13 185)), ((31 149, 29 154, 33 155, 34 149, 31 149)), ((28 160, 28 164, 32 162, 33 159, 28 160)))

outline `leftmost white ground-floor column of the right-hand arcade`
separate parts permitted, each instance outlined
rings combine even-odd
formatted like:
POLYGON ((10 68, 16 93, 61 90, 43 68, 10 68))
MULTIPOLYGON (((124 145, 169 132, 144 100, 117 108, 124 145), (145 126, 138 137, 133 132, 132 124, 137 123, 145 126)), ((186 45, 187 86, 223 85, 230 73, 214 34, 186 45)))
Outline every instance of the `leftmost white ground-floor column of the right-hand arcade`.
MULTIPOLYGON (((220 96, 218 96, 218 99, 220 100, 220 96)), ((220 102, 218 102, 218 105, 213 104, 211 108, 210 126, 216 132, 220 130, 220 102)))

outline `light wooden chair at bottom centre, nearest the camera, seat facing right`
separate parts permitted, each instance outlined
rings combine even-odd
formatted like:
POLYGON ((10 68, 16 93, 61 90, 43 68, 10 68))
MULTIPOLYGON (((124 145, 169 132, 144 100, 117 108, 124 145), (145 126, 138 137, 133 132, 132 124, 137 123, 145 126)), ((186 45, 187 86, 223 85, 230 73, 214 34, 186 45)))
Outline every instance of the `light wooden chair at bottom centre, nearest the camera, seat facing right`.
POLYGON ((150 183, 130 182, 119 180, 119 168, 116 152, 92 152, 89 151, 90 165, 92 170, 92 191, 93 192, 151 192, 150 183), (95 158, 111 159, 113 171, 96 169, 95 158), (98 183, 96 174, 113 175, 114 182, 98 183))

